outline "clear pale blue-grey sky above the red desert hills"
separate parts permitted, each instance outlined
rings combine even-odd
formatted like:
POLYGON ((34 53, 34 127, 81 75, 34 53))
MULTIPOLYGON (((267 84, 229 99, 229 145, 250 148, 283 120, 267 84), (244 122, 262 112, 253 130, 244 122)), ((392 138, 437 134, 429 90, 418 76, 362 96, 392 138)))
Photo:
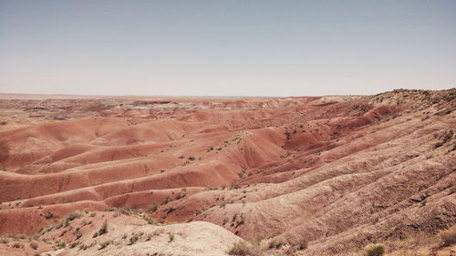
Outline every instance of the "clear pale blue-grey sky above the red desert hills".
POLYGON ((0 93, 456 87, 456 1, 0 0, 0 93))

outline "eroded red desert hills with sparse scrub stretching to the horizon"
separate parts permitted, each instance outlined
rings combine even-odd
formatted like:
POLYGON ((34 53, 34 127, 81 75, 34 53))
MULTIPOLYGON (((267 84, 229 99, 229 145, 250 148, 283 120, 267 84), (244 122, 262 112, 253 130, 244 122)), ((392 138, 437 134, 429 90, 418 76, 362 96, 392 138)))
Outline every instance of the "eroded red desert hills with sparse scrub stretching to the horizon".
POLYGON ((0 255, 456 255, 456 89, 0 95, 0 255))

